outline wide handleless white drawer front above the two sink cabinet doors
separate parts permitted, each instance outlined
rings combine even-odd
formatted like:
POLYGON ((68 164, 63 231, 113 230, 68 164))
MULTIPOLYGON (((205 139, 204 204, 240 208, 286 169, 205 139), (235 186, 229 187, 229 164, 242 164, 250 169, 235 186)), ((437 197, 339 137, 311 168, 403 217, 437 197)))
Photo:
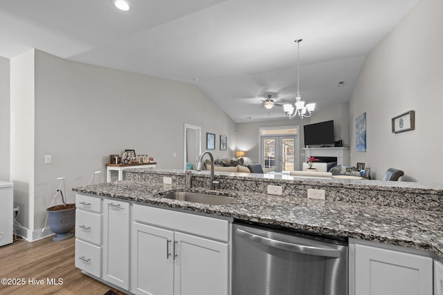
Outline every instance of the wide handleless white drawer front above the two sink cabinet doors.
POLYGON ((229 222, 218 218, 134 204, 134 221, 228 242, 229 222))

